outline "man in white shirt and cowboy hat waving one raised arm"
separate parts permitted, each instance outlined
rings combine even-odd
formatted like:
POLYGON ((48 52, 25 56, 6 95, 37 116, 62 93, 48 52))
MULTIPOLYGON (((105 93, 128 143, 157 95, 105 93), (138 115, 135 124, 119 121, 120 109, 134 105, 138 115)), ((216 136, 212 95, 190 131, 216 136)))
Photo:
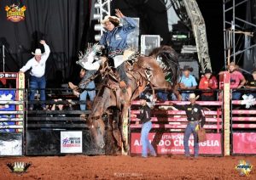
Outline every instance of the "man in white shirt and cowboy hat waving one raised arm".
MULTIPOLYGON (((35 53, 32 53, 35 55, 32 59, 29 59, 21 69, 20 72, 26 72, 26 70, 32 69, 30 71, 30 82, 29 87, 31 88, 29 100, 34 100, 34 96, 36 93, 36 89, 40 89, 40 99, 43 101, 45 100, 45 64, 46 60, 49 57, 49 46, 46 44, 44 40, 40 41, 41 44, 44 45, 44 53, 41 52, 40 48, 37 48, 35 53)), ((43 109, 45 110, 45 104, 42 104, 43 109)), ((33 109, 33 105, 30 106, 30 110, 33 109)))

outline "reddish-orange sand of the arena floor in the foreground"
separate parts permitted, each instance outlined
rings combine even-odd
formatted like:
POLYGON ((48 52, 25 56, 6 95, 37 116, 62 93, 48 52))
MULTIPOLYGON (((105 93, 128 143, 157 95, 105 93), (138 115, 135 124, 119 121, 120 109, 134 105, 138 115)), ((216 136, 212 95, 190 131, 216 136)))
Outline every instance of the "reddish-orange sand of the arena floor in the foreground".
POLYGON ((138 156, 39 156, 0 158, 0 179, 256 179, 256 156, 200 157, 186 159, 138 156), (241 177, 239 160, 253 165, 249 177, 241 177), (9 172, 8 162, 32 162, 24 174, 9 172))

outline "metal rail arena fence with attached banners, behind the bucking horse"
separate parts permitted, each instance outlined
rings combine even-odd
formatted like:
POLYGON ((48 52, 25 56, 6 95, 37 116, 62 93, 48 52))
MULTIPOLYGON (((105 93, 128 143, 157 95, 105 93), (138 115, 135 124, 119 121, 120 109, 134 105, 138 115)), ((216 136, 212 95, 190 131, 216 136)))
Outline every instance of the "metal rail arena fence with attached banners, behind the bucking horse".
MULTIPOLYGON (((158 93, 159 90, 156 90, 158 93)), ((230 100, 227 115, 223 90, 215 91, 215 101, 201 101, 207 117, 205 128, 207 141, 200 143, 201 155, 226 155, 225 144, 229 142, 230 155, 256 154, 256 110, 255 99, 250 97, 252 89, 239 89, 242 100, 230 100), (250 97, 250 98, 248 98, 250 97), (228 117, 228 121, 227 121, 228 117), (229 136, 227 136, 227 134, 229 136), (227 139, 230 141, 227 141, 227 139)), ((166 90, 166 93, 171 93, 166 90)), ((200 94, 201 90, 193 90, 200 94)), ((90 110, 79 110, 79 101, 67 88, 46 89, 47 99, 28 100, 28 89, 0 89, 0 155, 105 155, 105 149, 98 149, 93 143, 90 131, 84 122, 84 115, 90 110), (33 110, 29 110, 33 104, 33 110), (45 104, 47 110, 42 109, 45 104), (60 106, 61 105, 61 106, 60 106), (52 107, 55 106, 55 109, 52 107)), ((255 91, 256 93, 256 91, 255 91)), ((232 91, 229 90, 231 98, 232 91)), ((38 98, 37 96, 35 97, 38 98)), ((139 99, 131 102, 129 118, 130 154, 141 154, 140 131, 142 125, 136 117, 139 114, 139 99), (134 117, 133 117, 134 116, 134 117)), ((183 132, 187 124, 183 110, 160 110, 160 105, 171 100, 157 101, 151 121, 149 139, 159 155, 183 154, 183 132)), ((189 104, 189 101, 172 101, 175 104, 189 104)), ((106 126, 107 127, 107 126, 106 126)), ((189 140, 193 152, 194 139, 189 140)))

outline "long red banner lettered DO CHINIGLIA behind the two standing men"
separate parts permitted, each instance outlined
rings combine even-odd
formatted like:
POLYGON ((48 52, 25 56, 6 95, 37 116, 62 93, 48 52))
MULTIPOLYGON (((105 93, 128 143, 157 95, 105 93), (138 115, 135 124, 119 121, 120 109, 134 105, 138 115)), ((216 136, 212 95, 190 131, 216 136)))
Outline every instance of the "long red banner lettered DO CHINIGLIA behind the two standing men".
MULTIPOLYGON (((141 133, 131 132, 131 154, 142 153, 142 143, 140 141, 141 133)), ((183 133, 163 133, 161 137, 157 137, 156 132, 151 132, 148 135, 150 143, 157 141, 157 154, 184 154, 183 133)), ((207 155, 222 154, 221 133, 207 133, 207 141, 199 143, 199 153, 207 155)), ((154 144, 154 143, 153 143, 154 144)), ((190 153, 194 153, 194 138, 191 134, 189 138, 190 153)))

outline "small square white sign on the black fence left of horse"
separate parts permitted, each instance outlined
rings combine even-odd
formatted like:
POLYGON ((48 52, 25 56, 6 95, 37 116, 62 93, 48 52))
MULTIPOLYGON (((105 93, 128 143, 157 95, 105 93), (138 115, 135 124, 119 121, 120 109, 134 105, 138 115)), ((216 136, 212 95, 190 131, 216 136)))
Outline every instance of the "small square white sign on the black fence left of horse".
POLYGON ((61 132, 61 153, 82 153, 82 132, 61 132))

